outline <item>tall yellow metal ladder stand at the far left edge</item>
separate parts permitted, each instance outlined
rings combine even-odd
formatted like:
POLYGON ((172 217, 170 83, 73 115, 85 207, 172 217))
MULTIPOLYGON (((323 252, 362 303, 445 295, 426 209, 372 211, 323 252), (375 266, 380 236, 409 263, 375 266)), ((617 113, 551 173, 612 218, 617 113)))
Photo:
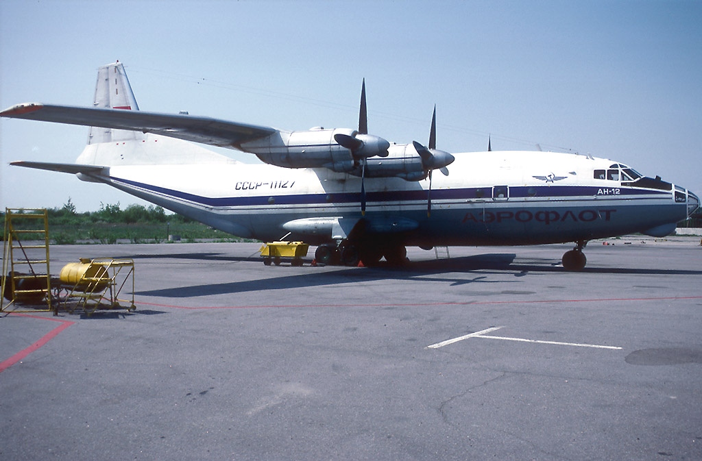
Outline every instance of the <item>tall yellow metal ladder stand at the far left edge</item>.
POLYGON ((51 272, 46 208, 5 208, 0 312, 51 310, 51 272), (24 241, 25 243, 22 243, 24 241), (9 300, 5 305, 5 301, 9 300), (17 302, 43 304, 46 309, 18 310, 17 302))

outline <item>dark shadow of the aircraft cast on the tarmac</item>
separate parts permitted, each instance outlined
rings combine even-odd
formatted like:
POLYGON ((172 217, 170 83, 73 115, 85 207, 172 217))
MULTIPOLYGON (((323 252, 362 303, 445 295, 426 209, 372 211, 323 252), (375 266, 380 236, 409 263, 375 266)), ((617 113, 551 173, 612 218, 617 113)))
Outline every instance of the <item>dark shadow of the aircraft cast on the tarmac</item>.
MULTIPOLYGON (((163 255, 146 255, 146 258, 164 258, 163 255)), ((189 253, 187 255, 166 255, 166 258, 188 258, 198 260, 218 260, 238 262, 243 260, 258 261, 258 258, 232 258, 229 256, 217 255, 216 253, 189 253)), ((135 256, 134 258, 140 258, 135 256)), ((418 262, 408 262, 402 267, 385 266, 382 263, 378 267, 366 267, 357 269, 355 267, 338 267, 333 271, 314 272, 314 267, 309 268, 310 272, 305 274, 281 275, 287 267, 281 266, 279 269, 270 267, 270 276, 263 279, 249 281, 235 281, 227 283, 208 283, 193 286, 180 286, 178 288, 165 288, 159 290, 142 290, 135 292, 135 295, 158 296, 164 298, 194 298, 206 295, 223 295, 227 293, 244 293, 259 290, 285 290, 290 288, 310 288, 314 286, 330 286, 343 283, 358 283, 363 281, 377 280, 409 280, 421 277, 423 281, 439 281, 451 283, 453 286, 468 283, 517 283, 518 278, 548 273, 572 274, 564 272, 559 263, 552 258, 531 259, 528 263, 513 264, 515 254, 509 253, 489 253, 483 255, 472 255, 462 258, 451 258, 444 260, 424 260, 418 262), (479 271, 474 277, 461 276, 470 272, 479 271), (491 274, 504 274, 513 272, 515 280, 505 281, 490 280, 491 274)), ((310 261, 306 260, 305 265, 310 261)), ((677 269, 628 269, 628 268, 585 268, 585 274, 659 274, 659 275, 702 275, 701 271, 677 270, 677 269)), ((267 275, 269 275, 267 273, 267 275)))

